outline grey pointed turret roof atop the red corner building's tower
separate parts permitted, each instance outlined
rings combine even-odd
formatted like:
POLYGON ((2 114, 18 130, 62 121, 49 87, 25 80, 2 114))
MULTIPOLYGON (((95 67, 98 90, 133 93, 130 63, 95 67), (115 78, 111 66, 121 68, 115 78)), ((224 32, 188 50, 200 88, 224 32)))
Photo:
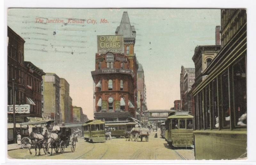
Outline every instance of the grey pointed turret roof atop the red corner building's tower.
POLYGON ((136 31, 134 26, 131 26, 127 11, 124 11, 120 26, 116 28, 116 35, 124 35, 124 38, 135 38, 136 31))

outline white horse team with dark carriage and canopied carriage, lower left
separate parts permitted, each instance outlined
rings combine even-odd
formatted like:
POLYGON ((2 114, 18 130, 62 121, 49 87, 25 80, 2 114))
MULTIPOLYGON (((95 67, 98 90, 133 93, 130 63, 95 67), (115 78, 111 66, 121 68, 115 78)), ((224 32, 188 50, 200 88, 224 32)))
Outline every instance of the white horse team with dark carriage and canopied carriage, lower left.
POLYGON ((28 137, 21 139, 21 148, 28 149, 30 154, 32 154, 30 149, 35 148, 36 151, 38 148, 38 155, 40 155, 40 149, 43 148, 44 153, 47 155, 49 148, 54 148, 56 153, 60 150, 62 154, 65 148, 70 145, 71 151, 74 152, 76 149, 76 141, 74 136, 71 136, 71 129, 68 127, 54 126, 55 128, 53 127, 54 129, 49 131, 48 129, 52 122, 54 122, 54 120, 46 119, 37 122, 21 123, 20 126, 27 125, 29 132, 28 137))

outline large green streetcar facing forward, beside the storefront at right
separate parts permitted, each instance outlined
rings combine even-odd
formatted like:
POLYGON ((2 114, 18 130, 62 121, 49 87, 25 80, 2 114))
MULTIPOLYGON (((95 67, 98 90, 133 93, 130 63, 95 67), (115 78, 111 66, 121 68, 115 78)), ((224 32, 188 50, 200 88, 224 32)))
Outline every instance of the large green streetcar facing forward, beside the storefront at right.
POLYGON ((194 116, 188 111, 172 113, 165 120, 165 140, 171 147, 191 147, 193 145, 194 116))

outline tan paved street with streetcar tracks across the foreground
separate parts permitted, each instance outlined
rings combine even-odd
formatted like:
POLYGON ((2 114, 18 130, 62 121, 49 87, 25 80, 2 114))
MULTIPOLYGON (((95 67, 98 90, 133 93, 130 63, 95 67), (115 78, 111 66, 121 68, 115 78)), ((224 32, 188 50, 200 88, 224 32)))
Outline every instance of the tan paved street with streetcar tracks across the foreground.
POLYGON ((108 140, 104 143, 88 143, 82 138, 76 143, 76 151, 71 152, 70 147, 65 148, 63 154, 45 156, 41 149, 41 156, 34 156, 35 149, 18 149, 8 151, 8 155, 17 159, 148 159, 148 160, 194 160, 194 149, 171 149, 166 141, 160 138, 160 129, 157 131, 158 138, 154 138, 156 132, 151 132, 149 141, 141 142, 125 141, 125 139, 108 140))

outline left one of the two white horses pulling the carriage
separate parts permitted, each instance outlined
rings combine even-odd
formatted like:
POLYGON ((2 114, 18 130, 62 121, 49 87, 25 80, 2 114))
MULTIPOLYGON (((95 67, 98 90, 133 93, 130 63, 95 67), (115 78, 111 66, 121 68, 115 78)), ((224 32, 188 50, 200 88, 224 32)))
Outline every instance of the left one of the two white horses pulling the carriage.
MULTIPOLYGON (((46 129, 46 128, 44 128, 44 129, 46 129)), ((31 139, 32 144, 35 146, 35 151, 36 151, 36 148, 38 148, 38 150, 39 150, 38 156, 40 156, 41 155, 41 153, 40 153, 41 143, 40 142, 44 141, 44 136, 39 133, 34 133, 32 131, 32 127, 28 128, 28 134, 29 134, 29 139, 31 139)), ((30 148, 29 148, 29 154, 32 154, 30 151, 30 148)), ((35 156, 37 156, 36 154, 35 154, 35 156)))

